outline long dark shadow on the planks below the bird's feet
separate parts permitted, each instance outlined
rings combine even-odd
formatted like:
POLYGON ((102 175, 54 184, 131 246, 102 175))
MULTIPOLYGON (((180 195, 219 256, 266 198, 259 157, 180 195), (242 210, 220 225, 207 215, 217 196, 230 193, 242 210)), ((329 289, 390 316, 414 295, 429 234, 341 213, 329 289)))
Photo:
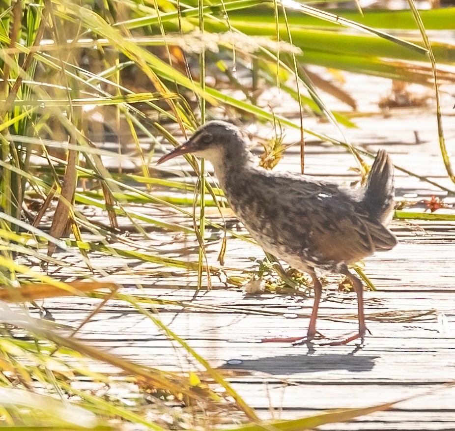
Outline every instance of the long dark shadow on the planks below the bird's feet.
POLYGON ((334 370, 351 373, 371 371, 378 356, 355 356, 350 354, 285 354, 258 359, 239 359, 234 364, 228 361, 222 369, 251 370, 267 374, 301 374, 334 370), (237 362, 240 362, 237 364, 237 362))

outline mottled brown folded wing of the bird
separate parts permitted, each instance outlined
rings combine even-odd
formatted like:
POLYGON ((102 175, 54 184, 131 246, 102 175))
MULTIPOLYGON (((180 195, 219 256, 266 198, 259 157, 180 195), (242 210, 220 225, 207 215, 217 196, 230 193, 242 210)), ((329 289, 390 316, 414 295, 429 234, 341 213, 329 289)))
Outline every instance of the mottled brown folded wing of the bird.
POLYGON ((395 236, 337 185, 302 178, 270 176, 269 193, 261 193, 264 204, 280 213, 274 224, 284 241, 319 260, 347 263, 396 245, 395 236))

